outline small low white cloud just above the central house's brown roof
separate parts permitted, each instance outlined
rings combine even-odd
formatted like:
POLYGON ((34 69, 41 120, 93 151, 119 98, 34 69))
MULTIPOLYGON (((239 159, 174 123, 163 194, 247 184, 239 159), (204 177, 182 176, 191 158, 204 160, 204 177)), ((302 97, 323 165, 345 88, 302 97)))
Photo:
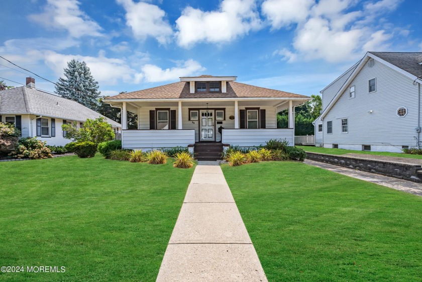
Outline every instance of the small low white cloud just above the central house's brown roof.
POLYGON ((142 67, 142 73, 147 82, 177 80, 180 76, 188 76, 204 70, 204 67, 192 59, 180 63, 179 66, 166 69, 151 64, 142 67))

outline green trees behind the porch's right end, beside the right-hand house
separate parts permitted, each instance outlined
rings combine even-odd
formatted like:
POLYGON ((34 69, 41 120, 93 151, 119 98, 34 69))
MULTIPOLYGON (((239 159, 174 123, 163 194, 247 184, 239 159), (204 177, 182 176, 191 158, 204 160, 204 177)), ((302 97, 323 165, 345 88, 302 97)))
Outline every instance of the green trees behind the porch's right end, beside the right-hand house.
MULTIPOLYGON (((294 113, 294 135, 313 135, 314 126, 312 122, 320 116, 322 110, 322 99, 319 95, 312 95, 312 100, 295 108, 294 113)), ((277 113, 277 128, 288 128, 288 110, 277 113)))

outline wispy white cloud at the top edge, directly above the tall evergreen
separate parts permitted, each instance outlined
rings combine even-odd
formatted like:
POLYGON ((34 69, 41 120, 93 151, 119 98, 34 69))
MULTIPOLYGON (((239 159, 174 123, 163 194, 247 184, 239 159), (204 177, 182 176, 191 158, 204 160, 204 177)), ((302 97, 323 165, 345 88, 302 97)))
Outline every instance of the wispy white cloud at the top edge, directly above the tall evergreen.
POLYGON ((102 36, 101 27, 79 9, 76 0, 47 0, 44 13, 33 14, 29 19, 51 29, 67 30, 70 36, 102 36))

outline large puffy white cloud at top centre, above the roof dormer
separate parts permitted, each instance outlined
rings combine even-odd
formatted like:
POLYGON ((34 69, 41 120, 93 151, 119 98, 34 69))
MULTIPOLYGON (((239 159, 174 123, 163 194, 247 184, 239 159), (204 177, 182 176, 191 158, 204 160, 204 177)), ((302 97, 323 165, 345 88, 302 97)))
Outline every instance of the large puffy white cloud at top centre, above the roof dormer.
POLYGON ((177 43, 189 48, 198 42, 225 43, 261 27, 254 0, 223 0, 218 11, 186 7, 176 20, 177 43))

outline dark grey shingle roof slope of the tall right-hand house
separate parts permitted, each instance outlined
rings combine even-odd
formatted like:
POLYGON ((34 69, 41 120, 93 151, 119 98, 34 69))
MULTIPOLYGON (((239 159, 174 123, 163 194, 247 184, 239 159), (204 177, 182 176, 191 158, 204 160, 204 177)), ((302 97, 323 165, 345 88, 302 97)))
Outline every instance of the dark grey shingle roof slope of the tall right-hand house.
POLYGON ((422 52, 369 52, 414 76, 422 75, 422 52))

